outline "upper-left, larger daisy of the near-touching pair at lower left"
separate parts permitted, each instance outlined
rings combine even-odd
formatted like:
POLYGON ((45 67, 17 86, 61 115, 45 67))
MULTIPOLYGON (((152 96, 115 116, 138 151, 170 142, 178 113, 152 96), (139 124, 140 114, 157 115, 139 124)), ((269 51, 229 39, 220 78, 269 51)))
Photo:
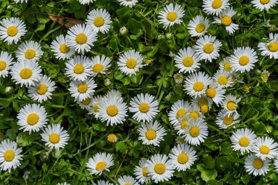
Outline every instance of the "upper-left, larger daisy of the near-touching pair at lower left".
POLYGON ((28 131, 29 134, 38 132, 47 125, 48 121, 46 110, 38 104, 27 104, 22 107, 17 114, 17 119, 17 125, 20 126, 19 130, 28 131))

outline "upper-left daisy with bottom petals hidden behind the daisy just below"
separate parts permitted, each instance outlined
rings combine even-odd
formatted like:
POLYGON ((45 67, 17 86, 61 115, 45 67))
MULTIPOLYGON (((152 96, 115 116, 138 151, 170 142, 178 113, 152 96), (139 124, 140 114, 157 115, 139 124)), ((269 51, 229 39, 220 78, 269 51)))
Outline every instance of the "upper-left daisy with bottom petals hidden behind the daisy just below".
POLYGON ((15 52, 17 60, 38 61, 43 52, 38 42, 33 40, 20 44, 15 52))

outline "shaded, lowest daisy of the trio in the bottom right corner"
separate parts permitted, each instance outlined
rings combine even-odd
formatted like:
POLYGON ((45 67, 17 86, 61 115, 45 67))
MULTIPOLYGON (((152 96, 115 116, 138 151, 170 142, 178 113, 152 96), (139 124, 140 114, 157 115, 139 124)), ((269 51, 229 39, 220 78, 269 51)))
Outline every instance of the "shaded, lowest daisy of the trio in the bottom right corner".
POLYGON ((270 166, 270 160, 269 159, 265 159, 264 161, 259 158, 256 157, 256 155, 251 154, 248 155, 247 157, 245 157, 245 170, 247 171, 247 173, 249 174, 253 174, 253 175, 265 175, 266 173, 268 173, 269 170, 269 166, 270 166))

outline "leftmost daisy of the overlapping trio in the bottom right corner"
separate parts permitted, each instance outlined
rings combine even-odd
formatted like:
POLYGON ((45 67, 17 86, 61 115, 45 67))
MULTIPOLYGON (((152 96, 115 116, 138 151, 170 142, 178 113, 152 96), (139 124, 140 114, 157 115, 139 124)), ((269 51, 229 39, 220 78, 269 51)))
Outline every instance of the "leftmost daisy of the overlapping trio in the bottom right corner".
POLYGON ((233 144, 231 147, 234 151, 240 150, 241 155, 252 151, 255 142, 256 134, 247 128, 238 129, 231 135, 231 143, 233 144))

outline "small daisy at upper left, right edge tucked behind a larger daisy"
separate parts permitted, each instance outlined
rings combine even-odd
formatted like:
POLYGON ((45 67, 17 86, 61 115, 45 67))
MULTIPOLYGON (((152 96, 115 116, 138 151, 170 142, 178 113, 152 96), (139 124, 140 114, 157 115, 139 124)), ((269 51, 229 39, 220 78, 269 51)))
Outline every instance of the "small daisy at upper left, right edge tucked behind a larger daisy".
POLYGON ((68 59, 74 54, 74 49, 67 45, 64 35, 58 35, 50 47, 57 59, 68 59))

